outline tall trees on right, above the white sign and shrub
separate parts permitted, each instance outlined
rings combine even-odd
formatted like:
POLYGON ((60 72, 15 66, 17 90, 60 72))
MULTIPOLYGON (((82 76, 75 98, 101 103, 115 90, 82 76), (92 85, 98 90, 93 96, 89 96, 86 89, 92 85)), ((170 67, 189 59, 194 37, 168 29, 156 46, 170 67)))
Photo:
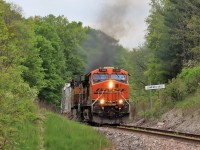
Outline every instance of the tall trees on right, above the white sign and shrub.
POLYGON ((147 72, 151 81, 167 82, 184 66, 197 64, 198 5, 197 1, 152 0, 147 19, 147 43, 152 51, 147 72))

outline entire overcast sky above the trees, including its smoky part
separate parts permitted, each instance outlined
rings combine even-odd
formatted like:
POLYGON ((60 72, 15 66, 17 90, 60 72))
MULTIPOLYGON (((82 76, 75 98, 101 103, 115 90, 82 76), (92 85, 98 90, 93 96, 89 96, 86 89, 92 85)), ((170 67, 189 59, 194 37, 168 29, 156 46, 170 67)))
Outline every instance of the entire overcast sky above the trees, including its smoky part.
POLYGON ((23 15, 64 15, 70 22, 101 29, 132 49, 144 42, 150 0, 6 0, 23 9, 23 15))

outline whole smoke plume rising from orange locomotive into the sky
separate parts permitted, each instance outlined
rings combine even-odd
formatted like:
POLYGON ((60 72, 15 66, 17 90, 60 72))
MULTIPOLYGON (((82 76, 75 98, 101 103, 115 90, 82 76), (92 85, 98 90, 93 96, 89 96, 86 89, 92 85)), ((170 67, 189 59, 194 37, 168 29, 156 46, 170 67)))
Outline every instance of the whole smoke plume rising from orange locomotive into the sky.
MULTIPOLYGON (((96 26, 109 35, 112 40, 98 38, 97 42, 101 45, 99 53, 89 57, 86 72, 99 67, 114 66, 119 49, 117 40, 126 37, 135 30, 133 10, 137 9, 138 4, 140 4, 138 0, 105 0, 104 2, 102 10, 97 16, 96 26)), ((99 33, 99 37, 104 36, 99 33)))

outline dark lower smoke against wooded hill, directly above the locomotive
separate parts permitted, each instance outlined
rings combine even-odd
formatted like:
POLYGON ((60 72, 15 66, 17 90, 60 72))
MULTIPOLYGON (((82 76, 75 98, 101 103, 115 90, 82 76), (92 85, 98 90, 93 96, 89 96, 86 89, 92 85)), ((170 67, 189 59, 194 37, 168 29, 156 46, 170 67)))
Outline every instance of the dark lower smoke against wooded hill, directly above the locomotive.
POLYGON ((85 41, 85 45, 90 45, 86 48, 88 52, 86 73, 99 67, 113 66, 119 48, 118 41, 98 30, 90 30, 89 35, 91 37, 85 41))

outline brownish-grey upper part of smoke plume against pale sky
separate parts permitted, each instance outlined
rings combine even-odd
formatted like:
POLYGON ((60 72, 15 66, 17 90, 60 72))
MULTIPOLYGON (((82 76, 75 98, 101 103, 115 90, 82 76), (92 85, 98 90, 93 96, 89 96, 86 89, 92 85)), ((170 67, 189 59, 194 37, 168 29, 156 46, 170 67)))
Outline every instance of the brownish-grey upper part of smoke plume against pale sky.
POLYGON ((119 39, 134 29, 131 9, 136 6, 135 0, 109 0, 103 6, 97 19, 98 27, 108 35, 119 39))

